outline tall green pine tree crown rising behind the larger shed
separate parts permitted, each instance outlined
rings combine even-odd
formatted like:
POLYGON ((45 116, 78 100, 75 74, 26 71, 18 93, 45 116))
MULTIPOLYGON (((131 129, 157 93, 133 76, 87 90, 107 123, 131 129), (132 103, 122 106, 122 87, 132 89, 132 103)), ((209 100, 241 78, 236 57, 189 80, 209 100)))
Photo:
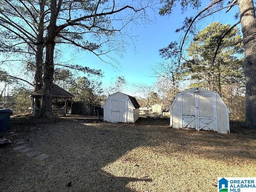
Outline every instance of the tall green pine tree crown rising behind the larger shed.
POLYGON ((216 91, 220 95, 223 85, 244 85, 242 38, 238 28, 233 28, 222 39, 216 58, 213 59, 220 38, 229 28, 229 24, 214 22, 201 30, 188 47, 190 60, 183 64, 186 73, 199 87, 216 91))

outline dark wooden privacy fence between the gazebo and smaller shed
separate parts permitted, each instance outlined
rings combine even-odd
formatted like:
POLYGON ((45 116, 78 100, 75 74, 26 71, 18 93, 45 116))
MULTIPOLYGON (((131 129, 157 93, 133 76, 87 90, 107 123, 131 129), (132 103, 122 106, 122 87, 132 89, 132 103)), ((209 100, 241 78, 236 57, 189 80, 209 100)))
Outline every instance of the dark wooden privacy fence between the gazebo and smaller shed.
POLYGON ((72 103, 72 114, 103 116, 103 108, 92 104, 88 104, 86 102, 75 101, 72 103))

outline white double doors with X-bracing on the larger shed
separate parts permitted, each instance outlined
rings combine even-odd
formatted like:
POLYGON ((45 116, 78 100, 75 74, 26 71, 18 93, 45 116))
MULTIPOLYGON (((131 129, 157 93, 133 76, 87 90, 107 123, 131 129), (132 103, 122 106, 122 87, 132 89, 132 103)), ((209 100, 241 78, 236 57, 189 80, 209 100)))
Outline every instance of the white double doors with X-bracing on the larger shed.
POLYGON ((216 131, 215 95, 184 94, 180 97, 180 126, 182 128, 216 131))

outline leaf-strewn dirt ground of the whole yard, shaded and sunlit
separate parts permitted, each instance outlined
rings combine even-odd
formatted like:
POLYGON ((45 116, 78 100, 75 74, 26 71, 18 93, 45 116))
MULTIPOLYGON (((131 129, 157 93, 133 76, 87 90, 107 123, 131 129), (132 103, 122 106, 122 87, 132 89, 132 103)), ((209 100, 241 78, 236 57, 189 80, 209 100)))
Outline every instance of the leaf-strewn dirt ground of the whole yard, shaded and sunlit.
POLYGON ((230 134, 61 116, 11 118, 0 148, 1 192, 212 192, 218 177, 255 177, 256 129, 230 134), (22 152, 16 147, 31 150, 22 152), (28 156, 39 151, 46 158, 28 156))

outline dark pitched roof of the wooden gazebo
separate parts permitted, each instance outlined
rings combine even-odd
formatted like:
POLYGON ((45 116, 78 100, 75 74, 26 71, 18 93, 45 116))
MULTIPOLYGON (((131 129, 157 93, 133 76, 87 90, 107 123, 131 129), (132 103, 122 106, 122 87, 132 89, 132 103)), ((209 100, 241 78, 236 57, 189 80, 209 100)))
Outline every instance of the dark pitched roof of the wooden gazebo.
MULTIPOLYGON (((40 89, 38 91, 32 92, 30 97, 42 97, 42 94, 43 94, 43 89, 40 89)), ((64 90, 63 88, 59 87, 58 85, 53 84, 52 97, 72 98, 75 96, 70 92, 64 90)))

